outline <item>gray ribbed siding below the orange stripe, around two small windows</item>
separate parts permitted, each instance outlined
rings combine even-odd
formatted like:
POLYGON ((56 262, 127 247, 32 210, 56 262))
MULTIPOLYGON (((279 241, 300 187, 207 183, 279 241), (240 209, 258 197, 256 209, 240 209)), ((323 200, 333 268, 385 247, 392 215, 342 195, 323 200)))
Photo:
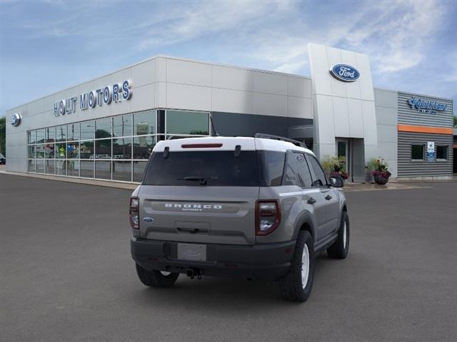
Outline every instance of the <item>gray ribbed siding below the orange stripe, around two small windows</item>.
POLYGON ((398 177, 452 175, 452 147, 452 135, 398 132, 398 177), (448 146, 448 160, 435 162, 427 162, 426 160, 411 161, 411 145, 426 145, 428 141, 435 142, 435 152, 438 145, 448 146))

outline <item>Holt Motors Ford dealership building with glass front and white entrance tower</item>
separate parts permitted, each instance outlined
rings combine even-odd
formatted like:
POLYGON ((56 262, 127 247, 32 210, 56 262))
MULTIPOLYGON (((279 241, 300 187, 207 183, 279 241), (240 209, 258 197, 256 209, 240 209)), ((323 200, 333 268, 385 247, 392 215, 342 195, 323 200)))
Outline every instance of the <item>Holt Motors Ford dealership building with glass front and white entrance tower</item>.
POLYGON ((446 179, 453 100, 373 88, 368 56, 308 45, 311 77, 156 56, 6 112, 7 170, 139 182, 159 140, 281 135, 350 181, 381 156, 392 177, 446 179))

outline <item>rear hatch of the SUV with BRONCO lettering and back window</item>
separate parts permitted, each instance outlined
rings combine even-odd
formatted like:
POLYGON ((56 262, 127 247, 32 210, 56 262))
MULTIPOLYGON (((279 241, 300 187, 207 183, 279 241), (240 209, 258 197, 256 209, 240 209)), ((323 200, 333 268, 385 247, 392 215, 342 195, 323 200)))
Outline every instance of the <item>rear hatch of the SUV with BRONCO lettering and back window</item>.
POLYGON ((151 156, 139 191, 141 237, 255 244, 260 181, 253 140, 250 150, 225 140, 188 145, 184 142, 189 140, 181 140, 183 145, 177 141, 161 142, 151 156))

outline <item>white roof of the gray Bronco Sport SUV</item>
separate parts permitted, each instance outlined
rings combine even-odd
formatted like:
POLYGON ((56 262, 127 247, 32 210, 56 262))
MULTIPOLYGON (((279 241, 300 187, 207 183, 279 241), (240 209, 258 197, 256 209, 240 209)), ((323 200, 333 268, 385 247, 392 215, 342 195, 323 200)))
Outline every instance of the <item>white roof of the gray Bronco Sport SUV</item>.
POLYGON ((314 155, 313 151, 293 145, 292 142, 250 137, 201 137, 161 140, 154 146, 154 152, 164 152, 165 147, 169 147, 169 151, 233 151, 236 145, 241 146, 241 151, 266 150, 286 152, 286 150, 297 150, 314 155), (201 146, 207 144, 216 145, 212 147, 201 146))

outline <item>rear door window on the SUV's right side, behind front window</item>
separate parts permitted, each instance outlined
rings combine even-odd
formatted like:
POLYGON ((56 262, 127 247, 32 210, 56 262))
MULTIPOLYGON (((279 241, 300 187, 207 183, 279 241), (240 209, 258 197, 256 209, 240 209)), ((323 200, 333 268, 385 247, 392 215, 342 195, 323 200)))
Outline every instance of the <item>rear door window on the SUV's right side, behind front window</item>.
POLYGON ((311 187, 311 172, 306 157, 300 152, 288 152, 283 185, 311 187))

